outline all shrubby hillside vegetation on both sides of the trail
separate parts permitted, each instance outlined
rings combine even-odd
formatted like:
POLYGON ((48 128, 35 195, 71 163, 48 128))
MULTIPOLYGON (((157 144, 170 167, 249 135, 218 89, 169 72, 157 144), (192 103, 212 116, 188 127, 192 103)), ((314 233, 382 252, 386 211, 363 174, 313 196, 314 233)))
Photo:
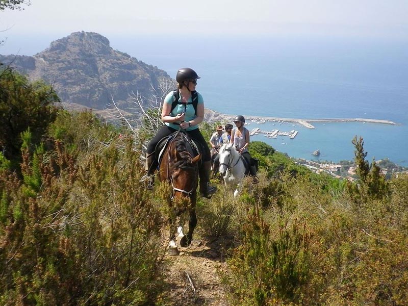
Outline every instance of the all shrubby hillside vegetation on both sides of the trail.
MULTIPOLYGON (((0 304, 172 305, 168 189, 139 183, 143 134, 55 109, 52 88, 10 70, 0 89, 0 304)), ((406 304, 408 177, 385 180, 363 139, 353 143, 353 183, 262 142, 250 146, 259 184, 245 180, 234 198, 213 178, 220 190, 198 200, 195 237, 235 242, 219 271, 231 305, 406 304)))

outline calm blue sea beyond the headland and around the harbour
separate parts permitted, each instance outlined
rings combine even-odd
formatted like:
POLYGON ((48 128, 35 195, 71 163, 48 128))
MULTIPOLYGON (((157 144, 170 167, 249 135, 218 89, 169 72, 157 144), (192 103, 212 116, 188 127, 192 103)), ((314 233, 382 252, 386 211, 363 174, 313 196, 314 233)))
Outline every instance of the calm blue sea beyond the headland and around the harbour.
MULTIPOLYGON (((352 138, 367 159, 408 166, 408 38, 327 36, 108 36, 111 46, 164 69, 200 75, 206 108, 224 114, 286 118, 370 118, 399 123, 251 123, 248 129, 297 130, 294 139, 265 141, 309 160, 352 160, 352 138), (321 155, 312 152, 319 149, 321 155)), ((45 46, 46 47, 46 46, 45 46)))

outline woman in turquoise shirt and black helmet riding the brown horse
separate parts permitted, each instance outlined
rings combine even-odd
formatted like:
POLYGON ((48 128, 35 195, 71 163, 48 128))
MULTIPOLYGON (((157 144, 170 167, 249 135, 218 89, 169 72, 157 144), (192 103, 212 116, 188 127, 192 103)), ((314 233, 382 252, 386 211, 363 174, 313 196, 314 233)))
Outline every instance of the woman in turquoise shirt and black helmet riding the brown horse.
POLYGON ((147 188, 151 189, 154 183, 154 173, 157 168, 155 157, 156 145, 159 141, 170 134, 182 129, 202 146, 202 163, 199 169, 200 176, 200 196, 211 197, 217 188, 210 186, 211 155, 207 141, 198 129, 198 124, 204 119, 204 100, 199 92, 196 92, 197 73, 191 68, 180 68, 176 73, 178 93, 171 91, 164 98, 162 109, 163 127, 147 146, 146 175, 141 181, 147 182, 147 188), (177 94, 175 94, 177 93, 177 94), (174 101, 179 97, 179 101, 174 101), (192 98, 197 99, 193 101, 192 98), (174 103, 175 107, 173 108, 174 103), (195 106, 194 103, 195 102, 195 106))

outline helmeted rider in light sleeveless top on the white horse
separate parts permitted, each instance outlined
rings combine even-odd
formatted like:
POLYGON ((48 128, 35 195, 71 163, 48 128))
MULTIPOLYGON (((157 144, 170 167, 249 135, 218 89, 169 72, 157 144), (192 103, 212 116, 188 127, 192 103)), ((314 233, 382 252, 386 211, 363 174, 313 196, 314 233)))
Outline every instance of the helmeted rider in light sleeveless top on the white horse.
POLYGON ((256 168, 252 167, 251 155, 249 154, 249 131, 244 127, 245 118, 242 115, 238 115, 234 119, 236 127, 231 132, 230 143, 233 143, 238 152, 245 158, 249 174, 252 176, 257 175, 256 168))

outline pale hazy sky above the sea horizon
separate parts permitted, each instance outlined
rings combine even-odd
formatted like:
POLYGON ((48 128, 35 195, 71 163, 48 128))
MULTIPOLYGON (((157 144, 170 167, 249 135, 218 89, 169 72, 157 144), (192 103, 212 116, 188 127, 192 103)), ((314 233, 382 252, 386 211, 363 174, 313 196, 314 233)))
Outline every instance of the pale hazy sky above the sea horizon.
POLYGON ((317 34, 408 37, 408 0, 31 0, 0 33, 317 34), (11 29, 9 29, 11 28, 11 29))

